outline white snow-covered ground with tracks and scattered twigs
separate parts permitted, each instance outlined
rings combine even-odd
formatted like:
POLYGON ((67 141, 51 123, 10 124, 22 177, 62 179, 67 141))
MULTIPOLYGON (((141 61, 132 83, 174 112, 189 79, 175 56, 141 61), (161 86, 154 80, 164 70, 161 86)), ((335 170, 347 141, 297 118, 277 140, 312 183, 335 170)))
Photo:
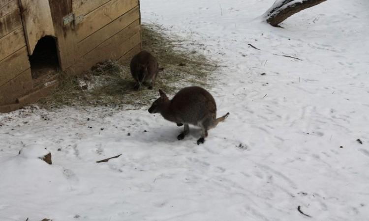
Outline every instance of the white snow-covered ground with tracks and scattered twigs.
POLYGON ((198 146, 147 108, 1 114, 0 220, 368 220, 369 1, 283 28, 261 22, 273 3, 141 0, 143 23, 220 61, 211 92, 230 116, 198 146), (17 155, 34 143, 53 165, 17 155))

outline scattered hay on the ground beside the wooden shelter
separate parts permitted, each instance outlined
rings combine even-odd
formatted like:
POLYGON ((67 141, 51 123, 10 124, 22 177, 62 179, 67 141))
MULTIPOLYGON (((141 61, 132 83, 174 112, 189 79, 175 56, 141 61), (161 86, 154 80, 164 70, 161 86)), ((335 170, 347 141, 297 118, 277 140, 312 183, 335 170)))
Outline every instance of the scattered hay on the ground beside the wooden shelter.
POLYGON ((180 39, 167 36, 156 25, 142 25, 143 50, 151 52, 159 63, 159 72, 154 90, 146 87, 133 90, 134 80, 129 63, 122 65, 107 60, 98 63, 80 76, 63 76, 60 89, 38 102, 43 108, 62 106, 124 106, 124 109, 138 109, 150 104, 158 97, 157 89, 174 94, 188 85, 210 86, 209 74, 216 69, 211 61, 196 51, 181 48, 180 39))

